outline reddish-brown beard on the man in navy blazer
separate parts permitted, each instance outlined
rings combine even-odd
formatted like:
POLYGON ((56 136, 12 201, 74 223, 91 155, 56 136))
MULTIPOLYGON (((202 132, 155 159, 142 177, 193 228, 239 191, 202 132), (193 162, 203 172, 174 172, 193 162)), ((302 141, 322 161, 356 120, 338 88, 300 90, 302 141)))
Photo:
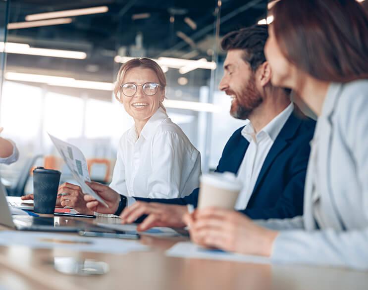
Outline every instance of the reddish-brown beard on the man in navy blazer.
POLYGON ((236 119, 248 119, 254 109, 262 102, 263 98, 256 88, 256 80, 252 75, 240 95, 236 95, 236 98, 232 101, 230 114, 236 119))

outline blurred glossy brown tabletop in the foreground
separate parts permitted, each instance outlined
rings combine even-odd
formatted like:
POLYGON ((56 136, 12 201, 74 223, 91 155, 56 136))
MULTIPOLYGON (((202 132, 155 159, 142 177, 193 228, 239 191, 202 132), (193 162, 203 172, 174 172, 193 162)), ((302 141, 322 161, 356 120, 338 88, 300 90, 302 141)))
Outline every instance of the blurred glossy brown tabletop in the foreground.
POLYGON ((2 283, 6 290, 367 290, 368 272, 165 256, 166 249, 182 240, 187 239, 143 235, 141 242, 150 245, 150 251, 122 255, 0 246, 0 289, 2 283), (102 276, 64 275, 53 269, 54 257, 104 261, 110 271, 102 276), (11 287, 13 280, 18 284, 11 287))

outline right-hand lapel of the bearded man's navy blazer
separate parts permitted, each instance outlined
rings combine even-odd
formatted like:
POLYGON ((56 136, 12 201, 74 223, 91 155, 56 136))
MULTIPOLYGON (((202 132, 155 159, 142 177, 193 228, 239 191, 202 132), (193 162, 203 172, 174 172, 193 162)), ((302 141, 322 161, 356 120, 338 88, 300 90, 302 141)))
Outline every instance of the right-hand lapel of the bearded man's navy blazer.
POLYGON ((258 191, 258 187, 260 186, 264 178, 264 175, 268 171, 268 168, 271 166, 273 160, 286 147, 286 145, 288 144, 288 140, 294 137, 301 122, 302 120, 295 116, 295 110, 294 110, 294 112, 290 115, 284 127, 281 129, 280 133, 278 134, 275 142, 271 146, 266 156, 266 159, 263 162, 261 172, 257 178, 256 185, 253 189, 252 197, 254 193, 258 191))

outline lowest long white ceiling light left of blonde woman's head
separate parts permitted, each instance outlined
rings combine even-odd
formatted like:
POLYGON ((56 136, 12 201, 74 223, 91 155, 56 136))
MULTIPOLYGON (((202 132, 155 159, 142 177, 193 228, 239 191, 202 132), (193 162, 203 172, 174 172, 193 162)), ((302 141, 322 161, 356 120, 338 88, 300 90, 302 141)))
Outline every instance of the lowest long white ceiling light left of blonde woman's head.
POLYGON ((112 91, 114 89, 113 83, 83 81, 69 77, 26 74, 17 72, 6 72, 5 79, 9 81, 41 83, 48 84, 50 86, 81 88, 90 90, 112 91))

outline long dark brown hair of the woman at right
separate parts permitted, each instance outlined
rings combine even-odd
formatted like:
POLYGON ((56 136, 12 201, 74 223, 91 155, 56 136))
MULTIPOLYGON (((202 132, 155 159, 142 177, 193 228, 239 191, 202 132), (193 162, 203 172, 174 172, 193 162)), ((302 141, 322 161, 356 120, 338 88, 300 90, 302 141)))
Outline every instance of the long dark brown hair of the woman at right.
POLYGON ((368 17, 356 0, 280 0, 271 9, 284 56, 312 77, 349 82, 368 76, 368 17))

